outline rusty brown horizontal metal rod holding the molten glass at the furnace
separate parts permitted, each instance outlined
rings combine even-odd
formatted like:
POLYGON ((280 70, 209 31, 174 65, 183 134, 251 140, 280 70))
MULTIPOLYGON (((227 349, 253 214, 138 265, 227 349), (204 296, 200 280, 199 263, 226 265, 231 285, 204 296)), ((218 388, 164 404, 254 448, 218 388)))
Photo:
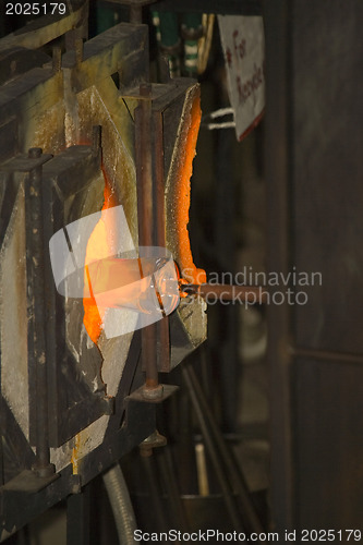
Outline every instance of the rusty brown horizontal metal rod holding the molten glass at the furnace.
POLYGON ((181 291, 189 295, 199 295, 208 303, 218 301, 235 301, 240 303, 265 303, 267 291, 263 286, 233 286, 222 283, 186 283, 181 291))

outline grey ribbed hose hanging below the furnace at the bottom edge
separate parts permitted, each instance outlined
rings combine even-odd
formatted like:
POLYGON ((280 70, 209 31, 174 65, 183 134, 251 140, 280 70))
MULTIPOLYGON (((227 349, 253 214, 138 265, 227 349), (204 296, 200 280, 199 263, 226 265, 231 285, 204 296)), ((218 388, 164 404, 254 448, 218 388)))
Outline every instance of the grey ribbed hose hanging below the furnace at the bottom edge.
POLYGON ((117 463, 104 473, 104 483, 111 504, 120 545, 133 545, 137 529, 129 489, 117 463))

